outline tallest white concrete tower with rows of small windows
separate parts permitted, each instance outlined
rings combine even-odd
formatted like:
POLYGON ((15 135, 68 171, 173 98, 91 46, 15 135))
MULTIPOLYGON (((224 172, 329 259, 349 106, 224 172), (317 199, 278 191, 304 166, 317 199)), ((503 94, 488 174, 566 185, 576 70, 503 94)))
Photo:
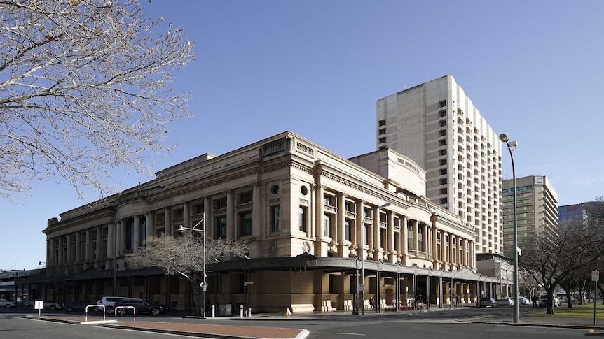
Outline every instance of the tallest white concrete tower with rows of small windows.
POLYGON ((477 253, 502 253, 501 141, 453 76, 379 99, 376 146, 426 171, 427 198, 474 227, 477 253))

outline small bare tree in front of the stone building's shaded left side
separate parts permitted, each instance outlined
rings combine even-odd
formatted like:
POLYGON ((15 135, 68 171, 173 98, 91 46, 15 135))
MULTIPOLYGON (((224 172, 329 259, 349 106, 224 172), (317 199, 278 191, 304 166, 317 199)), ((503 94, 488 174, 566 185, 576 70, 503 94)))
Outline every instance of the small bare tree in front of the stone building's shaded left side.
MULTIPOLYGON (((199 287, 203 281, 203 238, 197 233, 183 233, 181 236, 165 234, 148 238, 145 247, 128 254, 128 261, 139 268, 161 268, 167 275, 181 275, 193 285, 195 312, 200 312, 199 287)), ((205 244, 205 263, 215 263, 225 257, 245 257, 248 247, 245 243, 232 239, 208 239, 205 244)))

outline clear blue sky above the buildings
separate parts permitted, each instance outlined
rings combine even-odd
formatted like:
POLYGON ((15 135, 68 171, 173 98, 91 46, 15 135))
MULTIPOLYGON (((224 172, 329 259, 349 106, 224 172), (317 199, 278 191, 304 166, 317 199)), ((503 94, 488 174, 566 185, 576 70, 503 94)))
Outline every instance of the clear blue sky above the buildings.
MULTIPOLYGON (((196 116, 174 124, 179 147, 154 171, 287 130, 342 157, 371 152, 376 100, 451 74, 497 133, 518 140, 518 177, 547 175, 559 205, 604 194, 604 1, 142 3, 195 41, 174 86, 191 91, 196 116)), ((67 182, 29 193, 0 201, 0 268, 37 268, 47 220, 84 203, 67 182)))

